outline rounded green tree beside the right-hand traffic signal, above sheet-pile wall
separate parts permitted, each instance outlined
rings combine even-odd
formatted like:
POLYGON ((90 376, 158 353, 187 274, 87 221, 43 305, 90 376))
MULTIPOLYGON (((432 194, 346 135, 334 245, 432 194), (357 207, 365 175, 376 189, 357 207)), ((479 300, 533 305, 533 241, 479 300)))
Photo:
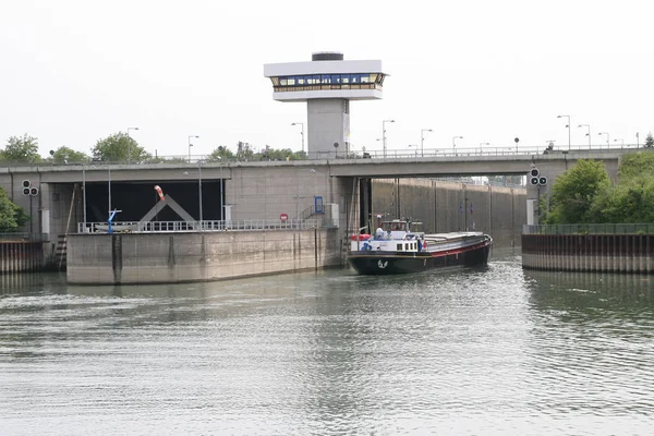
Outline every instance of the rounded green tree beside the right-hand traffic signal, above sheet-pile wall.
MULTIPOLYGON (((580 159, 574 167, 556 178, 552 185, 549 213, 544 222, 586 223, 596 222, 592 214, 595 197, 610 187, 604 162, 580 159)), ((542 206, 540 206, 543 210, 542 206)))

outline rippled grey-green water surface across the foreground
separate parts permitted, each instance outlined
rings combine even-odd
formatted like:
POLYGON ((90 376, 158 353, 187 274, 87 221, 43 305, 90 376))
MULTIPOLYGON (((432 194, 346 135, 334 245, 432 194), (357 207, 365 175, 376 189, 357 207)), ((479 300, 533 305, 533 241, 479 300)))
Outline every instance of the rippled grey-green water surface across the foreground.
POLYGON ((2 435, 649 435, 654 278, 3 281, 2 435))

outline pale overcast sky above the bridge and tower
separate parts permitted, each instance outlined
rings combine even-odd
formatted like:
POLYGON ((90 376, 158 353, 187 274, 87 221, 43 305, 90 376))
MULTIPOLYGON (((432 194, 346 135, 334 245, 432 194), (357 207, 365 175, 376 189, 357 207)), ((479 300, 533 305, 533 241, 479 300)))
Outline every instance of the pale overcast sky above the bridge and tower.
POLYGON ((640 143, 654 131, 654 3, 0 0, 0 145, 89 154, 128 128, 159 156, 301 148, 306 105, 265 63, 380 59, 382 100, 352 101, 351 146, 389 150, 640 143))

